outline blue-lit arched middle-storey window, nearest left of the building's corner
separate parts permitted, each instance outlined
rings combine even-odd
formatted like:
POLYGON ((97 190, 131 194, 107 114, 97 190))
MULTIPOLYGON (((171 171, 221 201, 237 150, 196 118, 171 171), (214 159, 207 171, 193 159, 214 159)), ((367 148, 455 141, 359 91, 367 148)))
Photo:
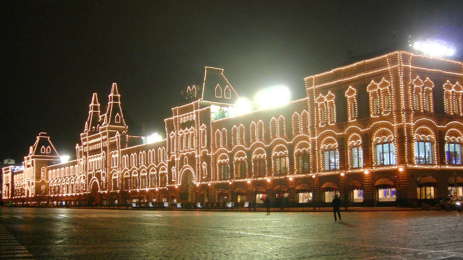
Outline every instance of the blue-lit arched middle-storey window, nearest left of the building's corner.
POLYGON ((395 164, 394 135, 388 128, 380 128, 373 135, 375 166, 395 164))

